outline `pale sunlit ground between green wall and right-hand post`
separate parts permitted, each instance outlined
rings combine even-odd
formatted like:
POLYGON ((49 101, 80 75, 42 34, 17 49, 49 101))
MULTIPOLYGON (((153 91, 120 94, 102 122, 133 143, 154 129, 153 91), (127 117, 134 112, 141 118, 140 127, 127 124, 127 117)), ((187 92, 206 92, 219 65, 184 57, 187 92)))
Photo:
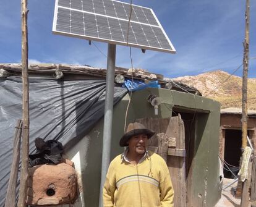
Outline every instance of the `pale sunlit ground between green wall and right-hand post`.
MULTIPOLYGON (((233 179, 224 179, 223 180, 223 188, 227 186, 228 184, 231 184, 233 182, 233 179)), ((237 182, 230 187, 226 188, 225 190, 222 191, 222 195, 218 203, 215 205, 215 207, 240 207, 241 199, 240 198, 235 198, 231 194, 231 188, 236 187, 237 182)), ((249 205, 250 207, 250 205, 249 205)))

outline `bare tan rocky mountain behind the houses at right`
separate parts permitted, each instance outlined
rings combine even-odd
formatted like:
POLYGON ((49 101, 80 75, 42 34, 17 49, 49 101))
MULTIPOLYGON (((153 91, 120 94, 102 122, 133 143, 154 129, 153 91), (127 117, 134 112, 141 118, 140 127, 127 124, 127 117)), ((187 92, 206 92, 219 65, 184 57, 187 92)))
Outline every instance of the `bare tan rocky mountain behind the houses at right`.
MULTIPOLYGON (((164 78, 197 88, 203 96, 221 103, 221 108, 242 107, 242 78, 222 70, 195 76, 164 78)), ((256 78, 248 78, 248 109, 256 110, 256 78)))

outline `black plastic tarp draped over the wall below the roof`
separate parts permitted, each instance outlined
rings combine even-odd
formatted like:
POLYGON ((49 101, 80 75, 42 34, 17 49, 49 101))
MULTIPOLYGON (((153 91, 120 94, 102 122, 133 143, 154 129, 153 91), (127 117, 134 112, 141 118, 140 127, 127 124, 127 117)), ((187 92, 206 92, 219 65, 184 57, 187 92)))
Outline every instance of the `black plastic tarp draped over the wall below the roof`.
MULTIPOLYGON (((58 140, 64 148, 74 146, 104 116, 105 80, 58 81, 30 77, 30 153, 34 140, 58 140)), ((114 104, 127 89, 114 88, 114 104)), ((0 79, 0 206, 4 206, 15 124, 22 119, 22 78, 0 79)))

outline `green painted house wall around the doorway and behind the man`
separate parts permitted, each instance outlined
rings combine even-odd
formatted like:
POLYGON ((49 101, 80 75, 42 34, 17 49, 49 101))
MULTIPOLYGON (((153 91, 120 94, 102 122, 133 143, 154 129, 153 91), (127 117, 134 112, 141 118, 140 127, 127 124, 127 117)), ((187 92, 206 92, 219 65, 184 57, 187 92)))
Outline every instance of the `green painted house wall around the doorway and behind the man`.
MULTIPOLYGON (((143 117, 156 117, 154 109, 148 103, 148 95, 161 97, 158 117, 171 117, 173 106, 189 112, 197 112, 195 154, 192 161, 192 206, 214 206, 220 198, 220 179, 218 166, 218 132, 220 127, 220 104, 202 96, 171 91, 167 89, 147 88, 132 93, 127 124, 143 117)), ((114 106, 113 140, 111 159, 122 153, 119 139, 124 134, 124 122, 129 96, 114 106)), ((80 168, 83 183, 85 207, 98 206, 100 193, 101 150, 103 137, 103 119, 95 125, 83 140, 72 148, 67 155, 73 158, 80 151, 80 168), (83 153, 82 153, 83 152, 83 153)))

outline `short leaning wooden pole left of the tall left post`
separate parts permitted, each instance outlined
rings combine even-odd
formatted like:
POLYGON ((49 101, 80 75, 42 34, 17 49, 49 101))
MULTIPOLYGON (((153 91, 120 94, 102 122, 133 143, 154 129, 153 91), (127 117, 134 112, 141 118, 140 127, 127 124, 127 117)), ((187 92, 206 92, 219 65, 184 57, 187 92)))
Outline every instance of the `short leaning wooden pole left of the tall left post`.
POLYGON ((22 120, 17 120, 14 136, 14 149, 12 151, 12 167, 6 193, 6 204, 4 206, 15 207, 16 187, 20 163, 20 138, 22 133, 22 120))

